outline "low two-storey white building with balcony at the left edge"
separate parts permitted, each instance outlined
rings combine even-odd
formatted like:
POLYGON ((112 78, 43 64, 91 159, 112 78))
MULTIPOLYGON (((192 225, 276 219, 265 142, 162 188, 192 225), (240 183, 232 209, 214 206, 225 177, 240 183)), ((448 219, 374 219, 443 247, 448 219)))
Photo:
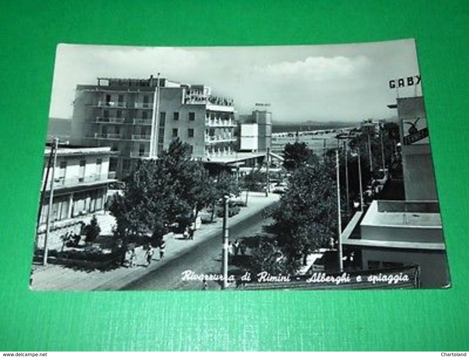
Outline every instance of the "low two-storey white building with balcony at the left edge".
POLYGON ((51 149, 46 148, 42 180, 44 192, 38 217, 38 246, 43 244, 48 215, 51 241, 58 241, 68 231, 76 233, 81 216, 104 209, 107 186, 116 181, 113 179, 114 173, 109 172, 110 148, 60 147, 53 170, 52 166, 48 168, 50 155, 51 149), (53 201, 49 212, 51 181, 53 201))

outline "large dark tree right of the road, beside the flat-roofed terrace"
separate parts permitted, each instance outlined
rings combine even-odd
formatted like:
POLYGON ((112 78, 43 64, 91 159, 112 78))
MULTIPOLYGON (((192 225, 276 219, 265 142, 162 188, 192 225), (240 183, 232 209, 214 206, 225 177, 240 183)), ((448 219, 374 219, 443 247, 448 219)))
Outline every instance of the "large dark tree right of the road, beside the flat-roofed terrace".
POLYGON ((308 254, 327 247, 337 238, 337 200, 334 165, 318 162, 297 168, 289 179, 287 192, 274 208, 278 245, 287 259, 287 269, 294 273, 308 254))

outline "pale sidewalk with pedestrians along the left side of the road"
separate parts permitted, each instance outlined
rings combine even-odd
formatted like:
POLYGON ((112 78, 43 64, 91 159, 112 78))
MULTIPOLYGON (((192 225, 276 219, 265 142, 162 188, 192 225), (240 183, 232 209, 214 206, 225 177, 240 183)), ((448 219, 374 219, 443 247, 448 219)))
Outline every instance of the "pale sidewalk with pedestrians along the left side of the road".
MULTIPOLYGON (((245 193, 242 194, 245 197, 245 193)), ((238 215, 228 219, 228 226, 239 223, 246 218, 255 215, 265 207, 279 199, 279 195, 270 193, 265 197, 265 193, 249 193, 248 207, 242 207, 238 215)), ((110 234, 114 223, 113 217, 109 214, 97 214, 98 223, 102 234, 110 234)), ((155 248, 155 254, 149 267, 145 266, 145 252, 142 247, 136 248, 136 267, 119 267, 109 271, 84 271, 67 268, 61 265, 49 264, 46 267, 33 266, 32 290, 119 290, 129 283, 158 269, 167 261, 172 260, 193 249, 194 246, 212 238, 214 235, 222 235, 222 219, 215 223, 203 224, 194 232, 193 240, 183 240, 177 238, 166 239, 165 258, 159 260, 159 250, 155 248)))

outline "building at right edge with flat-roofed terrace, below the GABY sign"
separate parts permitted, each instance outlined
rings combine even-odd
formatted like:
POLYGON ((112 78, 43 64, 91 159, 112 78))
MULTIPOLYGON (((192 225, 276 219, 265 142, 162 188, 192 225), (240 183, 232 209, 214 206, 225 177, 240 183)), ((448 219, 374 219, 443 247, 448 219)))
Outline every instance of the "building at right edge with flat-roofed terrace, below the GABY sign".
POLYGON ((424 288, 449 285, 423 97, 398 98, 405 201, 372 201, 341 234, 363 269, 419 267, 424 288))

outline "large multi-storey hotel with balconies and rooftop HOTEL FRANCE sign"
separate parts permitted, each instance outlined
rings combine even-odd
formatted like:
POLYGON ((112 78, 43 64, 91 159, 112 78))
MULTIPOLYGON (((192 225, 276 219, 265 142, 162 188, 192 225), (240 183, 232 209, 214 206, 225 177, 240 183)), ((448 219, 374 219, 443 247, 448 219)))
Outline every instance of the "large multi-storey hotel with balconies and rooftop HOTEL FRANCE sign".
POLYGON ((140 158, 155 157, 176 138, 192 156, 209 159, 235 151, 233 100, 211 88, 157 79, 98 78, 77 85, 71 142, 109 146, 110 170, 122 178, 140 158))

